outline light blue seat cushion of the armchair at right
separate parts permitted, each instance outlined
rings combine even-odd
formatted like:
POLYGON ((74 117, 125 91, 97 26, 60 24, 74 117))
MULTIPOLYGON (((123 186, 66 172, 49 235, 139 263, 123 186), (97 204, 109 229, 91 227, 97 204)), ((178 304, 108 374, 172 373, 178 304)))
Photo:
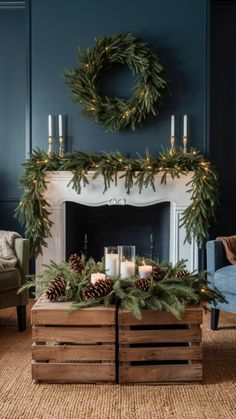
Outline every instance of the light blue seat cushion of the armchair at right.
POLYGON ((220 291, 236 294, 236 265, 218 269, 214 275, 214 285, 220 291))

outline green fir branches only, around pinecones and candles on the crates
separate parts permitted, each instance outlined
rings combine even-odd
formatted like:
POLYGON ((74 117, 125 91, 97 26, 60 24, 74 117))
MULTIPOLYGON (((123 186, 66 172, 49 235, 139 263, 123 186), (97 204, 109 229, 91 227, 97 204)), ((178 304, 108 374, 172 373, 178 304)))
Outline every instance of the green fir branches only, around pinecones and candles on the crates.
MULTIPOLYGON (((150 263, 153 268, 159 264, 150 259, 143 259, 145 263, 150 263)), ((137 259, 137 264, 139 260, 137 259)), ((172 266, 165 263, 166 274, 161 281, 155 280, 155 276, 149 277, 149 288, 142 291, 135 287, 138 277, 134 275, 130 278, 112 278, 113 288, 108 295, 98 299, 84 300, 83 291, 90 282, 93 272, 105 273, 104 263, 95 262, 90 258, 81 273, 73 271, 67 262, 51 262, 45 266, 44 271, 37 275, 35 280, 32 278, 20 289, 38 284, 40 292, 48 289, 51 281, 58 275, 62 275, 66 282, 65 299, 72 301, 71 310, 78 310, 94 304, 110 305, 118 303, 121 308, 131 311, 138 319, 142 316, 142 310, 166 310, 177 319, 181 318, 184 309, 192 303, 202 304, 213 301, 226 302, 224 296, 217 290, 208 287, 206 272, 188 273, 184 277, 178 277, 178 272, 185 269, 185 261, 179 261, 172 266)))

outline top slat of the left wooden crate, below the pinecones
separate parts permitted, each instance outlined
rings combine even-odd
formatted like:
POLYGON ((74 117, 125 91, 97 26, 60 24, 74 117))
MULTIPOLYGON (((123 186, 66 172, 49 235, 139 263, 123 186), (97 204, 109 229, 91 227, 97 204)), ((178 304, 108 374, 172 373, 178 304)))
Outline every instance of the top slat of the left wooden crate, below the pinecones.
POLYGON ((97 305, 83 310, 69 310, 69 302, 50 302, 41 297, 31 310, 31 323, 41 325, 94 326, 115 325, 116 307, 97 305))

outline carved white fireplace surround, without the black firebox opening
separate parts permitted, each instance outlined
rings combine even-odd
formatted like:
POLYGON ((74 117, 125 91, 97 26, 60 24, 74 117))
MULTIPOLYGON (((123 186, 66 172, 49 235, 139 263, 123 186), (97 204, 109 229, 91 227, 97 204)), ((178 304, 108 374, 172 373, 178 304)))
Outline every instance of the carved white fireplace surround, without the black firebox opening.
MULTIPOLYGON (((78 194, 72 184, 68 186, 72 173, 68 171, 48 172, 46 175, 47 189, 45 198, 51 206, 52 237, 47 239, 47 247, 43 248, 42 255, 36 259, 36 272, 40 273, 42 265, 50 260, 60 262, 65 259, 65 202, 71 201, 87 206, 102 205, 132 205, 145 207, 161 202, 170 202, 170 240, 169 261, 176 263, 180 259, 187 259, 187 268, 190 271, 198 269, 198 247, 195 240, 184 243, 186 231, 180 226, 183 211, 190 204, 190 194, 186 184, 191 180, 193 173, 181 175, 174 180, 167 177, 165 185, 160 183, 161 175, 155 177, 155 188, 143 188, 139 193, 138 187, 131 188, 129 194, 125 189, 125 180, 119 179, 117 185, 111 183, 110 188, 104 193, 103 177, 93 179, 94 172, 88 173, 89 185, 81 187, 78 194)), ((120 173, 119 175, 121 175, 120 173)))

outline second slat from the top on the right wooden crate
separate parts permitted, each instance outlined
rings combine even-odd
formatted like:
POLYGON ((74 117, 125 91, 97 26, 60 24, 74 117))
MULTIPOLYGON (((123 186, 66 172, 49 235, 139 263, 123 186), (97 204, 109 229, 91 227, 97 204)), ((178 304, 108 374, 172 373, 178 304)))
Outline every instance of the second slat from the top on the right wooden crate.
POLYGON ((201 328, 166 330, 122 330, 119 331, 120 344, 161 343, 161 342, 199 342, 201 328))

